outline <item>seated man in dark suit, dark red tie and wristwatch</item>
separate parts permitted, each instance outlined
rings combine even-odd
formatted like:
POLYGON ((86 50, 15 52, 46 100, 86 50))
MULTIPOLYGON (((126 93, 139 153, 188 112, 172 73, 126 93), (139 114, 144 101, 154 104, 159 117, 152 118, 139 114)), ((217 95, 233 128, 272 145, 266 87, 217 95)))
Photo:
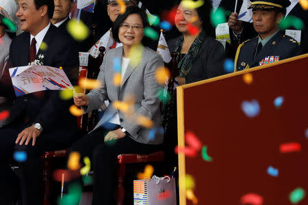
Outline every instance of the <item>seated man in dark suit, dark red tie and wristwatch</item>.
MULTIPOLYGON (((75 141, 77 122, 68 111, 70 100, 62 100, 59 92, 46 90, 15 97, 8 68, 27 66, 31 62, 59 68, 76 81, 78 53, 49 19, 53 16, 53 0, 19 0, 16 13, 25 32, 10 46, 9 64, 0 82, 0 95, 14 99, 10 113, 13 121, 0 128, 0 201, 14 202, 18 190, 16 176, 8 163, 13 153, 21 151, 26 161, 19 164, 23 204, 42 204, 42 164, 40 155, 47 150, 68 148, 75 141)), ((31 79, 29 79, 31 81, 31 79)))

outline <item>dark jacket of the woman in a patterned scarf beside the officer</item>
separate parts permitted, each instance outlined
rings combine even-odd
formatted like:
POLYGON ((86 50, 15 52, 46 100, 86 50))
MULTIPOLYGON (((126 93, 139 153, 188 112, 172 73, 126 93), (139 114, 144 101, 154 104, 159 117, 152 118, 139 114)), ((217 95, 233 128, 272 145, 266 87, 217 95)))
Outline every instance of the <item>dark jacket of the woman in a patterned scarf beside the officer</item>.
MULTIPOLYGON (((170 52, 175 51, 175 42, 178 38, 168 41, 170 52)), ((194 64, 186 76, 185 83, 193 83, 217 77, 224 74, 224 47, 220 42, 205 36, 201 48, 196 55, 194 64)))

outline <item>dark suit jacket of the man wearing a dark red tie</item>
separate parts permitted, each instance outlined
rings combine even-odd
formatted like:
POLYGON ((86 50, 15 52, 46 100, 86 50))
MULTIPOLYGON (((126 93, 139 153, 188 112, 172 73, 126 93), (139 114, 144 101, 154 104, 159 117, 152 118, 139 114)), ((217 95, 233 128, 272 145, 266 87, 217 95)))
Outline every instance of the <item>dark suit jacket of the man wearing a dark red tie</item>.
MULTIPOLYGON (((44 40, 48 46, 46 50, 39 50, 36 59, 45 66, 59 68, 62 66, 64 72, 72 83, 76 82, 78 76, 79 57, 77 49, 72 42, 65 38, 58 29, 51 25, 44 40), (42 59, 39 56, 44 57, 42 59)), ((16 66, 27 66, 29 63, 30 33, 23 32, 17 36, 10 45, 9 64, 5 70, 7 81, 0 84, 0 95, 14 99, 14 108, 11 118, 16 123, 21 120, 29 120, 40 123, 44 129, 43 133, 57 133, 55 138, 69 140, 71 135, 77 131, 76 118, 68 111, 73 100, 64 101, 60 99, 58 91, 44 91, 15 97, 12 81, 8 68, 16 66)), ((2 79, 1 79, 2 80, 2 79)), ((60 141, 61 141, 60 140, 60 141)))

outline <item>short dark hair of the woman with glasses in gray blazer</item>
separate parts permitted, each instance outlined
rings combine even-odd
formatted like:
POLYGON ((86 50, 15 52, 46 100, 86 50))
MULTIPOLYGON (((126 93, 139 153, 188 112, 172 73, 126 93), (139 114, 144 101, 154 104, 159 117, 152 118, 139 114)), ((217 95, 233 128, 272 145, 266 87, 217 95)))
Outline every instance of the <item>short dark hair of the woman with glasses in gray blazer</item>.
MULTIPOLYGON (((144 10, 138 8, 137 5, 131 5, 127 7, 126 12, 124 14, 118 15, 118 18, 114 21, 114 25, 112 27, 112 37, 116 42, 120 42, 120 39, 118 38, 118 30, 120 29, 120 24, 123 23, 123 21, 129 16, 130 14, 138 14, 142 19, 143 27, 149 27, 148 18, 146 16, 146 13, 144 10)), ((145 36, 142 39, 142 44, 144 46, 148 45, 149 39, 147 39, 145 36)))

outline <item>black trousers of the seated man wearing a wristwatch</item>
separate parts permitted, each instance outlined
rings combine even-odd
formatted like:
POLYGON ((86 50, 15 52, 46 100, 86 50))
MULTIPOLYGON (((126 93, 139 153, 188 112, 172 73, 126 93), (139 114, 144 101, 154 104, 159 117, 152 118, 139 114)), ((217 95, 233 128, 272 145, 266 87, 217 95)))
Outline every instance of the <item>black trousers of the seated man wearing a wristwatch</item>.
MULTIPOLYGON (((27 146, 25 143, 22 146, 16 144, 18 134, 32 124, 32 122, 14 122, 0 128, 0 204, 14 202, 18 197, 18 191, 21 190, 23 205, 41 205, 44 189, 40 155, 45 151, 64 149, 73 144, 73 139, 63 141, 61 133, 67 138, 67 132, 57 128, 55 131, 42 131, 36 139, 35 146, 31 145, 31 141, 27 146), (27 154, 27 160, 18 163, 21 176, 16 176, 9 166, 16 151, 27 154)), ((77 129, 70 128, 70 135, 76 136, 77 129)))

